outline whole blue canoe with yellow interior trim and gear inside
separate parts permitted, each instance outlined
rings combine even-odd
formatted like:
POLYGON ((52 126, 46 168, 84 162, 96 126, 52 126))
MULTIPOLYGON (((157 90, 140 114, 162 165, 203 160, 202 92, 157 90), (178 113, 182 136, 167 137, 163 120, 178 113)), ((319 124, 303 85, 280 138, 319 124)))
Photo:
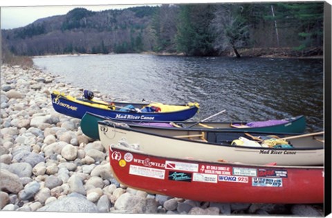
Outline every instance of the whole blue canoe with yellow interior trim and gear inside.
POLYGON ((199 110, 199 103, 187 105, 140 104, 129 102, 104 102, 67 96, 59 91, 51 93, 55 111, 81 119, 86 112, 120 120, 136 121, 183 121, 192 118, 199 110), (158 109, 154 112, 153 109, 158 109))

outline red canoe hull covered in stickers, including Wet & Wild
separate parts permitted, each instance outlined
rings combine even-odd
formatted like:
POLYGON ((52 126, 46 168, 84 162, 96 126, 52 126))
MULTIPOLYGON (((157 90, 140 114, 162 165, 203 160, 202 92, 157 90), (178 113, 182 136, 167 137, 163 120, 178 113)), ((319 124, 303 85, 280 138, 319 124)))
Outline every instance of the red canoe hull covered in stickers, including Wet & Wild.
POLYGON ((210 163, 109 149, 116 179, 155 194, 223 203, 322 203, 323 167, 210 163))

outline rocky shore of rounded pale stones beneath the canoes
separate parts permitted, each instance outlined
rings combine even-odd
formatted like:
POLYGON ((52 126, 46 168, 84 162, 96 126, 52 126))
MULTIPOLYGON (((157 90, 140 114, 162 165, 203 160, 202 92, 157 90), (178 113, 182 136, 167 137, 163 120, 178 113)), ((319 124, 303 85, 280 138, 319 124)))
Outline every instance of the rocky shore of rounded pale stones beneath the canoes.
POLYGON ((82 95, 39 69, 1 66, 2 211, 323 216, 322 204, 198 202, 127 188, 113 178, 100 141, 82 134, 79 119, 54 111, 53 90, 82 95))

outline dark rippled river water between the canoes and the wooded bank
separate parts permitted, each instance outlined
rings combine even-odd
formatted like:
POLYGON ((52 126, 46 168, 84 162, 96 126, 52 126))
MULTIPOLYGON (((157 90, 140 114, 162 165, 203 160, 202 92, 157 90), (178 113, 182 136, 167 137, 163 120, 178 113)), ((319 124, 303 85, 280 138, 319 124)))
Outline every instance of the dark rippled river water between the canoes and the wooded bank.
POLYGON ((98 90, 113 100, 199 102, 193 120, 268 120, 304 115, 307 132, 322 131, 322 59, 79 55, 36 57, 59 82, 98 90))

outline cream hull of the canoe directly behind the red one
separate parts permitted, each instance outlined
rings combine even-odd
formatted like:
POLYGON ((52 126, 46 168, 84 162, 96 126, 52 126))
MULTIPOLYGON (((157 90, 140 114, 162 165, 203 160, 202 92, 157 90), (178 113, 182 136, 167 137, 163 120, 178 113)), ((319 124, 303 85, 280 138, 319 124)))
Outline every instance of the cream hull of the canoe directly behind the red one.
MULTIPOLYGON (((224 160, 250 164, 275 162, 278 165, 323 165, 324 163, 324 149, 322 146, 303 147, 301 149, 230 146, 149 134, 129 127, 110 125, 107 122, 98 122, 98 126, 100 140, 105 149, 108 149, 110 145, 122 142, 128 145, 136 145, 147 154, 172 156, 174 158, 194 158, 202 161, 224 160)), ((313 143, 320 145, 320 142, 315 140, 313 140, 313 143)))

